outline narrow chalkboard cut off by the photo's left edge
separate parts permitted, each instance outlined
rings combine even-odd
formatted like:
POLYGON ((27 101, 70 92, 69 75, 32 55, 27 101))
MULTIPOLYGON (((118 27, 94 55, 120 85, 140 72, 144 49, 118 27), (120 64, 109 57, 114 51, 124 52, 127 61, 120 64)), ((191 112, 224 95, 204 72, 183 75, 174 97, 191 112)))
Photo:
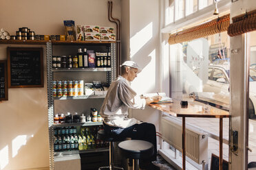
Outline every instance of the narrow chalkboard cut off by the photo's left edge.
POLYGON ((7 64, 6 61, 0 61, 0 101, 8 100, 7 88, 7 64))

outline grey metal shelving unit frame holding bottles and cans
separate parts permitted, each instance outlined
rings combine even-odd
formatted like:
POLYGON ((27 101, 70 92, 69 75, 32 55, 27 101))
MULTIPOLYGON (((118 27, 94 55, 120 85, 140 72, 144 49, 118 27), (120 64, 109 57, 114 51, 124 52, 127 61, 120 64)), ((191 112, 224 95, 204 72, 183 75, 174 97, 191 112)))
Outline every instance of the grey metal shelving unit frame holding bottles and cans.
MULTIPOLYGON (((0 42, 1 43, 1 42, 0 42)), ((28 42, 31 43, 31 42, 28 42)), ((107 82, 110 84, 116 78, 116 43, 115 42, 79 42, 79 41, 46 41, 47 53, 47 99, 48 99, 48 129, 50 141, 50 169, 54 169, 54 156, 61 156, 66 154, 83 154, 97 151, 108 151, 108 148, 88 149, 85 151, 58 151, 54 153, 54 127, 62 126, 92 126, 102 125, 103 122, 87 122, 87 123, 54 123, 54 101, 59 100, 73 100, 73 99, 103 99, 105 95, 91 95, 91 96, 78 96, 78 97, 53 97, 52 96, 52 80, 55 72, 106 72, 107 82), (110 45, 111 49, 111 68, 78 68, 78 69, 52 69, 52 47, 53 45, 64 46, 105 46, 110 45)))

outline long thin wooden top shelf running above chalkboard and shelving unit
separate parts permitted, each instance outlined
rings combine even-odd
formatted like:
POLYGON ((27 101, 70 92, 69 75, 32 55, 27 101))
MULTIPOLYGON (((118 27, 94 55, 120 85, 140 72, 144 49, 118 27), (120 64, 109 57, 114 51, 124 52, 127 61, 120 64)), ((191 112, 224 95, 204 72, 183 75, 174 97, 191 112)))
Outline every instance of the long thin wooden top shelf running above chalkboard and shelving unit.
MULTIPOLYGON (((0 44, 6 45, 46 45, 50 40, 0 40, 0 44)), ((99 45, 116 43, 116 41, 81 41, 81 40, 52 40, 52 45, 99 45)))

